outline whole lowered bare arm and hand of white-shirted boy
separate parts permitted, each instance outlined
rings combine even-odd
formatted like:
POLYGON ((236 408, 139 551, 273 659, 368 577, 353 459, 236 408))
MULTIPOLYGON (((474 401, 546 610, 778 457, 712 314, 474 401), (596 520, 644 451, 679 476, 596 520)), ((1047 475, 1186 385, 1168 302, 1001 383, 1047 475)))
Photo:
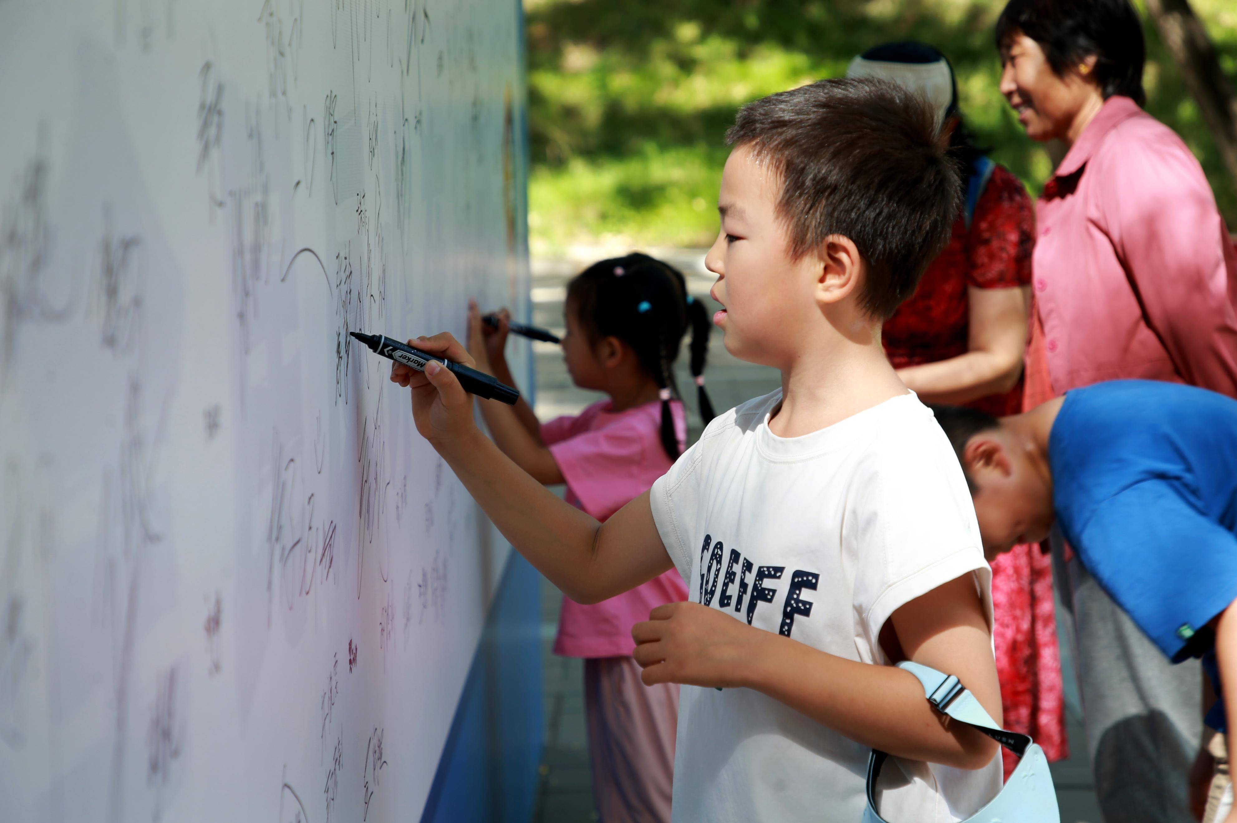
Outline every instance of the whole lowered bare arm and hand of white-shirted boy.
MULTIPOLYGON (((670 603, 632 629, 646 683, 747 687, 866 746, 898 758, 981 769, 997 743, 936 713, 910 672, 873 666, 755 629, 698 603, 670 603)), ((991 639, 970 575, 894 612, 907 657, 955 675, 1001 723, 991 639)))

